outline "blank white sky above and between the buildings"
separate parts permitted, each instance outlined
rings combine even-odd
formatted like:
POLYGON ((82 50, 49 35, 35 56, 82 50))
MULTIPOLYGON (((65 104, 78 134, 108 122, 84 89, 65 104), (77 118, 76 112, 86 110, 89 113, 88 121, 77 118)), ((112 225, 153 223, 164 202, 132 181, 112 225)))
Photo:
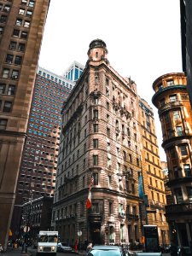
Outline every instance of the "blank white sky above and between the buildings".
POLYGON ((166 160, 152 84, 182 72, 179 0, 50 0, 38 65, 62 75, 73 61, 85 65, 89 44, 107 44, 108 61, 131 77, 154 110, 160 160, 166 160))

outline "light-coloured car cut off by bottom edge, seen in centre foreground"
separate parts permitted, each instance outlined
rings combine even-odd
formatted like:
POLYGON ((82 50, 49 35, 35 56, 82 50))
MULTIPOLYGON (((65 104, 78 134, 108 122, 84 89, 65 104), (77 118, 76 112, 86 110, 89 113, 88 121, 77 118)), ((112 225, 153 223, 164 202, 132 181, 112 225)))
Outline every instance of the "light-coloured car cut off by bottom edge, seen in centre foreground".
POLYGON ((124 251, 122 247, 118 246, 94 246, 87 253, 87 256, 128 256, 129 254, 124 251))

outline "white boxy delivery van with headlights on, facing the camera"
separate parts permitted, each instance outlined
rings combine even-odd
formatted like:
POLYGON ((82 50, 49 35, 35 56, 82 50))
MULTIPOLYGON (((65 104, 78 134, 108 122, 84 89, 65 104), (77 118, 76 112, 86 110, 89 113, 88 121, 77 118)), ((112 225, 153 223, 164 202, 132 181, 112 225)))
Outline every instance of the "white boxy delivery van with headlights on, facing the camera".
POLYGON ((58 231, 39 231, 37 255, 51 253, 56 255, 58 231))

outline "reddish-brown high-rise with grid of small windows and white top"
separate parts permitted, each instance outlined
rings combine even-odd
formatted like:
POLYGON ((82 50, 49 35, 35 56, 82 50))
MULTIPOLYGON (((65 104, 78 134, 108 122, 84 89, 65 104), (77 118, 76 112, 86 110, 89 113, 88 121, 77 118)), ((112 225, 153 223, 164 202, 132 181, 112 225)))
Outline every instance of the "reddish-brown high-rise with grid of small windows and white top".
POLYGON ((72 81, 38 67, 16 188, 13 236, 18 233, 20 206, 31 196, 54 195, 61 109, 73 86, 72 81))

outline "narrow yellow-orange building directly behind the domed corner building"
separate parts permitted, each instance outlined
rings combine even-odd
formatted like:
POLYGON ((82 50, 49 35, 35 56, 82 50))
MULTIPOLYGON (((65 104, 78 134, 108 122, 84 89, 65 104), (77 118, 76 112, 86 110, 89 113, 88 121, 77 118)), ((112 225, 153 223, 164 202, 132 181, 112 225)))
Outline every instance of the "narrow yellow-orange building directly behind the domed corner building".
POLYGON ((160 164, 154 112, 148 103, 139 98, 139 114, 143 145, 143 188, 148 195, 146 218, 148 224, 158 226, 160 244, 169 244, 169 228, 165 218, 166 191, 165 174, 160 164))

